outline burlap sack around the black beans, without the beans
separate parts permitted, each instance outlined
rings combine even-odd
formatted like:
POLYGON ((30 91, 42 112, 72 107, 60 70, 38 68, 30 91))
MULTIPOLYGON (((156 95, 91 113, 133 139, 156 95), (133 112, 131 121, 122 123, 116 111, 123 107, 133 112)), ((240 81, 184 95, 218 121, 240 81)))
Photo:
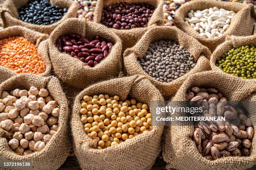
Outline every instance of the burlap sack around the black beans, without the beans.
POLYGON ((51 25, 35 25, 31 23, 26 23, 22 20, 18 20, 19 14, 18 9, 23 5, 26 5, 29 0, 6 0, 3 8, 1 10, 1 18, 3 19, 3 27, 10 27, 13 25, 20 25, 31 30, 42 32, 45 34, 51 34, 51 32, 56 28, 60 23, 68 18, 75 18, 77 16, 78 4, 72 0, 50 0, 50 3, 53 5, 58 5, 61 8, 67 7, 67 13, 61 18, 59 22, 53 23, 51 25))

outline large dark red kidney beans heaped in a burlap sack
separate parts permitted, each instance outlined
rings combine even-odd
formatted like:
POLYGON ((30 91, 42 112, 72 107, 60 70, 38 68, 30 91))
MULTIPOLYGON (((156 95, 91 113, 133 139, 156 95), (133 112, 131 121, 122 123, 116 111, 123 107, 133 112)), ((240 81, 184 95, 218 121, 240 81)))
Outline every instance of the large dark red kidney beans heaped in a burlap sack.
POLYGON ((93 67, 108 57, 113 44, 99 36, 84 38, 78 34, 69 33, 59 37, 56 46, 59 51, 69 53, 72 57, 84 62, 84 65, 93 67))

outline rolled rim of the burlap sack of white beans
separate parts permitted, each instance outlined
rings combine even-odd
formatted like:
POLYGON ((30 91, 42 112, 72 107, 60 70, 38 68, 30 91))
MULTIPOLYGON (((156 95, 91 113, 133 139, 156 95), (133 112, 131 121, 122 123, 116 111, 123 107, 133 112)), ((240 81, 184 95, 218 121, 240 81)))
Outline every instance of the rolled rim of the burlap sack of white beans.
POLYGON ((215 0, 193 0, 190 2, 185 3, 182 5, 175 13, 174 16, 174 24, 177 25, 178 28, 181 28, 182 30, 186 29, 186 32, 189 33, 189 35, 197 38, 197 40, 200 41, 218 41, 223 38, 225 38, 226 35, 229 35, 231 32, 233 32, 234 29, 236 29, 236 26, 238 25, 238 22, 234 22, 234 20, 238 17, 238 13, 243 13, 243 10, 246 10, 246 8, 251 8, 251 16, 253 18, 256 18, 256 14, 254 11, 254 5, 252 4, 242 4, 239 2, 220 2, 220 1, 215 1, 215 0), (219 8, 224 8, 226 10, 234 10, 236 15, 233 16, 230 22, 230 27, 223 33, 222 36, 218 38, 205 38, 201 37, 188 23, 185 23, 184 18, 187 17, 187 13, 189 13, 190 10, 204 10, 203 8, 200 7, 200 4, 207 5, 208 8, 210 7, 219 7, 219 8), (191 9, 190 6, 198 4, 198 7, 196 9, 191 9), (232 6, 232 7, 229 7, 232 6), (227 9, 228 7, 228 9, 227 9), (183 13, 186 13, 183 15, 183 13), (186 28, 181 27, 181 25, 187 25, 186 28))

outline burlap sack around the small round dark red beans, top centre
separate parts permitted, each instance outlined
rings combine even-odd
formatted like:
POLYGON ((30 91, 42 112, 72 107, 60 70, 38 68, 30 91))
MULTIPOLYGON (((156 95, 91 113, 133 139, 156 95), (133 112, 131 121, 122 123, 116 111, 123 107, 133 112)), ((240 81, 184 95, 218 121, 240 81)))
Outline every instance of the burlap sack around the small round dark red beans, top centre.
POLYGON ((125 50, 128 47, 132 47, 136 44, 136 42, 141 38, 141 36, 151 27, 156 25, 163 25, 164 15, 163 15, 163 0, 97 0, 97 5, 95 7, 94 13, 94 21, 96 23, 100 23, 103 7, 113 5, 118 2, 127 2, 128 4, 135 3, 146 3, 155 7, 155 11, 148 21, 147 28, 135 28, 131 30, 118 30, 114 28, 108 28, 108 30, 112 30, 118 36, 121 37, 123 41, 123 49, 125 50))

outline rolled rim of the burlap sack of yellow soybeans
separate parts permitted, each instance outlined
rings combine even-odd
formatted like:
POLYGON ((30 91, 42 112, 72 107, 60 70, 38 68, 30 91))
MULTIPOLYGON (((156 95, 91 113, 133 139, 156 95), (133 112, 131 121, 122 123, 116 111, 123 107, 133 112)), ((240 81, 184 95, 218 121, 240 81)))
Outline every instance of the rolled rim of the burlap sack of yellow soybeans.
MULTIPOLYGON (((140 75, 135 75, 135 76, 131 76, 133 77, 133 84, 137 83, 137 82, 140 82, 141 80, 143 79, 146 79, 145 76, 140 76, 140 75)), ((125 77, 121 77, 121 78, 118 78, 118 79, 122 79, 122 78, 125 78, 125 77)), ((146 79, 147 80, 147 79, 146 79)), ((101 82, 98 82, 92 86, 89 86, 87 88, 85 88, 84 90, 82 90, 79 95, 76 96, 75 100, 74 100, 74 105, 73 105, 73 110, 72 110, 72 117, 74 116, 73 114, 75 115, 80 115, 80 112, 78 109, 75 109, 76 107, 77 108, 82 108, 81 105, 80 105, 80 101, 82 100, 82 96, 83 95, 86 95, 85 92, 87 90, 90 90, 91 88, 95 88, 93 86, 97 86, 99 85, 101 82)), ((132 84, 132 85, 133 85, 132 84)), ((131 87, 132 88, 132 87, 131 87)), ((131 90, 131 89, 130 89, 131 90)), ((130 93, 130 90, 127 91, 127 95, 129 95, 130 93)), ((156 89, 157 90, 157 89, 156 89)), ((107 94, 107 93, 106 93, 107 94)), ((99 95, 99 94, 93 94, 93 95, 99 95)), ((127 97, 127 96, 126 96, 127 97)), ((126 98, 120 98, 120 100, 125 100, 126 98)), ((150 103, 148 103, 148 106, 150 108, 150 103)), ((73 122, 74 123, 74 122, 73 122)), ((72 125, 73 126, 73 125, 72 125)), ((105 149, 102 149, 102 150, 98 150, 96 149, 96 143, 95 141, 88 137, 86 135, 86 133, 84 132, 84 129, 82 128, 83 125, 82 125, 82 121, 79 121, 79 125, 76 125, 77 127, 79 126, 80 127, 80 132, 83 133, 83 135, 79 136, 79 140, 75 141, 75 143, 79 143, 82 147, 82 149, 86 149, 86 152, 87 153, 97 153, 97 154, 102 154, 102 153, 110 153, 110 152, 115 152, 115 151, 120 151, 120 148, 122 147, 125 147, 127 148, 127 146, 132 146, 134 143, 140 143, 140 140, 137 140, 137 139, 140 139, 140 138, 143 138, 143 137, 148 137, 150 135, 154 135, 154 133, 158 132, 159 131, 159 128, 161 129, 161 127, 159 126, 152 126, 152 129, 148 132, 148 133, 142 133, 138 136, 135 136, 134 138, 132 138, 131 140, 129 141, 126 141, 126 142, 122 142, 122 143, 119 143, 118 145, 114 145, 114 146, 111 146, 111 147, 107 147, 105 149), (89 143, 89 144, 88 144, 89 143), (93 148, 95 147, 95 148, 93 148)), ((72 134, 72 135, 77 135, 78 133, 76 134, 72 134)), ((74 140, 75 137, 73 137, 73 140, 74 140)))

